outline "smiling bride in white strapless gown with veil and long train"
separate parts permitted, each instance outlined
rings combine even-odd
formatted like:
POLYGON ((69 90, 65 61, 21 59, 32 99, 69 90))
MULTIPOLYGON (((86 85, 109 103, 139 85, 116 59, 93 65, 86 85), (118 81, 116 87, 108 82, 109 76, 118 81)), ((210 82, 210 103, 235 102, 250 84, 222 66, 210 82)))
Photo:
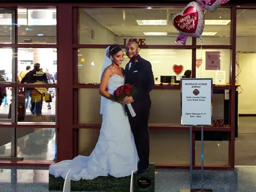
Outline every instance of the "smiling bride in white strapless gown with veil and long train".
POLYGON ((126 177, 137 171, 139 159, 128 116, 122 104, 112 101, 114 91, 124 85, 122 61, 124 52, 119 45, 106 49, 100 83, 102 127, 94 151, 89 157, 79 155, 51 164, 51 175, 65 179, 71 170, 71 179, 78 181, 108 175, 126 177))

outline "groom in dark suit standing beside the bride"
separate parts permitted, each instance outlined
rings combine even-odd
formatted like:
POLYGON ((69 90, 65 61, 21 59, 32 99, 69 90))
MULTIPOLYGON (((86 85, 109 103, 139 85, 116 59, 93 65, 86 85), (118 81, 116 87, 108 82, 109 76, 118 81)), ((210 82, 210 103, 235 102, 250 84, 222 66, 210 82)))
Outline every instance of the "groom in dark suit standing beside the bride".
POLYGON ((136 113, 135 117, 130 115, 128 107, 126 111, 130 121, 134 141, 138 151, 138 171, 134 174, 144 173, 148 169, 149 164, 149 133, 148 133, 148 117, 151 107, 150 91, 154 87, 154 76, 152 66, 138 55, 138 42, 131 40, 126 45, 126 55, 130 58, 127 63, 125 73, 125 83, 134 86, 132 96, 124 98, 123 102, 131 103, 136 113))

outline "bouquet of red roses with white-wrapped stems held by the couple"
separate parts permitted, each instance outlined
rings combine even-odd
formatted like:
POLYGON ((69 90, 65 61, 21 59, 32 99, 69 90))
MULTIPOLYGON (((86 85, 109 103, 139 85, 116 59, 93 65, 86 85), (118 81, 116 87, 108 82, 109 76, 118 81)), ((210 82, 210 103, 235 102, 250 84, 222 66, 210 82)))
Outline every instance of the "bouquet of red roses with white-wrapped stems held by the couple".
MULTIPOLYGON (((132 96, 132 92, 133 92, 132 85, 130 85, 130 84, 121 85, 120 87, 118 87, 118 89, 116 89, 114 91, 114 94, 113 94, 114 101, 121 103, 122 99, 124 99, 125 97, 132 96)), ((135 113, 134 109, 132 108, 132 105, 129 103, 127 105, 127 107, 129 109, 132 117, 135 117, 136 113, 135 113)))

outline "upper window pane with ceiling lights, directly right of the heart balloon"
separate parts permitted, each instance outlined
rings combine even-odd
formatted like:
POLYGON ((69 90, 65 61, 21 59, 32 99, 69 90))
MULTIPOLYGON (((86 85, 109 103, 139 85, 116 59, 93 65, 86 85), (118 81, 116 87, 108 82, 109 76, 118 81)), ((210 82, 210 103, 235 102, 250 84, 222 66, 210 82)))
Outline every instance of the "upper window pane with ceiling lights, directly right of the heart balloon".
MULTIPOLYGON (((205 11, 203 45, 231 45, 231 9, 219 8, 215 12, 205 11)), ((197 45, 201 45, 197 38, 197 45)))

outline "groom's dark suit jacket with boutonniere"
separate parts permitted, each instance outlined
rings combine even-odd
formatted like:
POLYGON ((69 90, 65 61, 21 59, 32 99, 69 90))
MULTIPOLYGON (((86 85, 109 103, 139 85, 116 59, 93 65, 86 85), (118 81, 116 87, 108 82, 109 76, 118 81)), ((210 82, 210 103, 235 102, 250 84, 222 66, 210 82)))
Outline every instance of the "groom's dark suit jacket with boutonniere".
POLYGON ((132 103, 132 107, 137 114, 150 109, 151 101, 149 93, 154 87, 154 75, 149 61, 146 61, 140 55, 137 55, 135 58, 137 62, 134 62, 134 59, 130 59, 130 62, 132 62, 130 69, 130 62, 126 64, 124 74, 125 83, 134 86, 134 93, 132 93, 134 102, 132 103))

